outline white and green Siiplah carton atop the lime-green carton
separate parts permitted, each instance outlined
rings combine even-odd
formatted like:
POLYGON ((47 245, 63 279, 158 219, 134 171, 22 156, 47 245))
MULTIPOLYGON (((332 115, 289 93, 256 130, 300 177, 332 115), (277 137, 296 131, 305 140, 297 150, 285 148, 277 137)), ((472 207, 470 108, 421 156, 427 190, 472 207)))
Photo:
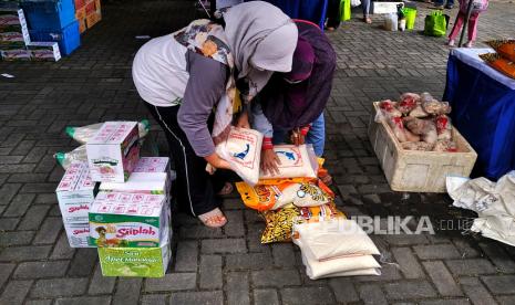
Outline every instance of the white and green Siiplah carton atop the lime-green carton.
POLYGON ((164 194, 99 192, 90 209, 90 245, 158 246, 168 227, 169 206, 164 194))

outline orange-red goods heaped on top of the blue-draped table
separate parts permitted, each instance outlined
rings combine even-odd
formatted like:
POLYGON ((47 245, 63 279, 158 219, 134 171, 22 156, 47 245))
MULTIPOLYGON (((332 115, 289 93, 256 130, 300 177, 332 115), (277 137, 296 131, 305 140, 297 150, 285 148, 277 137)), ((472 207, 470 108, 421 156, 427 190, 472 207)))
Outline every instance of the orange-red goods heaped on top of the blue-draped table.
POLYGON ((515 78, 515 40, 493 40, 486 44, 497 53, 482 54, 480 57, 493 69, 515 78))

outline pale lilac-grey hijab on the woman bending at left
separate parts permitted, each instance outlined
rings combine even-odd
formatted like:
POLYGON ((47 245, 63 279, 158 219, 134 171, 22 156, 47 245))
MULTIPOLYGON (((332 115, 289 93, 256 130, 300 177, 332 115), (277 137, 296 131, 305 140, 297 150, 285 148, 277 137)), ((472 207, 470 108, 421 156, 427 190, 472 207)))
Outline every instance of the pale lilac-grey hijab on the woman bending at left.
POLYGON ((226 10, 223 17, 237 78, 248 78, 250 95, 257 94, 274 72, 291 70, 298 30, 279 8, 250 1, 226 10))

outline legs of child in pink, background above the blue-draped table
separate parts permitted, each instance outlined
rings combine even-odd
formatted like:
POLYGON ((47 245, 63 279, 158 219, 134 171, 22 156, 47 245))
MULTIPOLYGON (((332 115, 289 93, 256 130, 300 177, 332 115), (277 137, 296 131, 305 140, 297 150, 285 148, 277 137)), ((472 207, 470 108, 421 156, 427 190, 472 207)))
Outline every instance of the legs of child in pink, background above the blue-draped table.
POLYGON ((465 48, 471 48, 477 36, 477 19, 480 18, 480 12, 485 11, 488 7, 488 0, 460 0, 460 11, 457 12, 451 34, 449 34, 449 46, 454 46, 455 39, 465 22, 468 1, 473 1, 473 3, 471 19, 468 20, 468 41, 465 43, 465 48))

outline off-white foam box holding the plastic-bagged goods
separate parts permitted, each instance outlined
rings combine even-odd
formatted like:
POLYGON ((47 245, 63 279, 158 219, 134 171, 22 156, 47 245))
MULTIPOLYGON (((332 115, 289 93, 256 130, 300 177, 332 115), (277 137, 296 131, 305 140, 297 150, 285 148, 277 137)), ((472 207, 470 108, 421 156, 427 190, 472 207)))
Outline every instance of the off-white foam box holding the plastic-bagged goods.
POLYGON ((375 123, 379 102, 373 103, 369 139, 390 187, 394 191, 446 192, 446 176, 468 177, 477 154, 453 128, 457 152, 404 150, 388 123, 375 123))

